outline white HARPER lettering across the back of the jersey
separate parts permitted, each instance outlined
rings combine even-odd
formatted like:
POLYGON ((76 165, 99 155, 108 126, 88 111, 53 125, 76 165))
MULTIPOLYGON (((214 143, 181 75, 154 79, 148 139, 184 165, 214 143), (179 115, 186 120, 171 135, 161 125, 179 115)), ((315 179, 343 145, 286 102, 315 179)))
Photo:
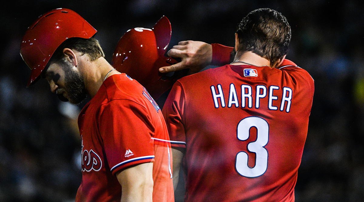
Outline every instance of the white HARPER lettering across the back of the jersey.
POLYGON ((280 111, 290 111, 291 100, 292 100, 292 88, 282 87, 281 92, 279 92, 280 87, 278 86, 265 86, 265 85, 257 85, 253 88, 250 85, 242 84, 240 86, 240 92, 237 91, 234 83, 230 83, 229 93, 223 92, 221 84, 217 84, 217 86, 210 87, 213 102, 215 108, 226 107, 253 107, 253 100, 255 100, 254 107, 261 107, 261 100, 268 99, 268 109, 269 110, 279 110, 280 111), (241 94, 241 99, 239 102, 238 93, 241 94), (281 98, 280 98, 281 97, 281 98), (277 100, 277 101, 275 101, 277 100), (277 105, 277 106, 276 106, 277 105))

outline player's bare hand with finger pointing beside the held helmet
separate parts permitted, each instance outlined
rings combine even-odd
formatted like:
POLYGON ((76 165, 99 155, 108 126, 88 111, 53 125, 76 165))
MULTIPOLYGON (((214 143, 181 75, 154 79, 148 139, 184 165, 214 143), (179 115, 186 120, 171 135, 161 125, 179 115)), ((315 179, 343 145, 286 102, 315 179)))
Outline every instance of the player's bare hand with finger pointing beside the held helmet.
POLYGON ((181 62, 171 66, 161 67, 161 73, 169 73, 182 69, 190 69, 188 74, 194 74, 210 65, 212 46, 202 41, 181 41, 167 52, 169 57, 181 58, 181 62))

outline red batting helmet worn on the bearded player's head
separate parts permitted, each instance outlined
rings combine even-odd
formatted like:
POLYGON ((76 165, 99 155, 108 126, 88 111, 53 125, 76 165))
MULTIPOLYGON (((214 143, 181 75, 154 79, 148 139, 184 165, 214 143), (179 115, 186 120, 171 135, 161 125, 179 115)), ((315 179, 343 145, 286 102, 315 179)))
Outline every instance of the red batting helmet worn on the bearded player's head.
POLYGON ((54 51, 68 38, 91 38, 97 30, 76 12, 58 8, 41 15, 24 34, 20 55, 31 69, 27 87, 39 77, 54 51))

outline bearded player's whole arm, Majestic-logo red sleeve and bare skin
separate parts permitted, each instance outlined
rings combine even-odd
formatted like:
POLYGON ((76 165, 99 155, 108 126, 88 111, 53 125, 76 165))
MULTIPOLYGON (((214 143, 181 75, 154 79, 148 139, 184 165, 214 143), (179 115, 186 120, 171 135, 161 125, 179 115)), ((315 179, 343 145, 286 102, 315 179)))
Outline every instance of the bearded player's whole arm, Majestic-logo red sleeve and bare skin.
POLYGON ((149 144, 152 132, 146 108, 114 99, 100 106, 97 114, 108 166, 122 186, 121 201, 152 201, 154 146, 149 144), (132 161, 124 155, 129 150, 132 161))

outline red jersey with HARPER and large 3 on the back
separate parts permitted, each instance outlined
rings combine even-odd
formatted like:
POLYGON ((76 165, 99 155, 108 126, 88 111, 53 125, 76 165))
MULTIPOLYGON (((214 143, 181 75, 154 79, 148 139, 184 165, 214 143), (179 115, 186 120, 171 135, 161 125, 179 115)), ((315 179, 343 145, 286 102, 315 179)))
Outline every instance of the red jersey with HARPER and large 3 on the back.
POLYGON ((185 201, 294 201, 314 81, 285 61, 225 65, 179 79, 163 107, 185 147, 185 201))

